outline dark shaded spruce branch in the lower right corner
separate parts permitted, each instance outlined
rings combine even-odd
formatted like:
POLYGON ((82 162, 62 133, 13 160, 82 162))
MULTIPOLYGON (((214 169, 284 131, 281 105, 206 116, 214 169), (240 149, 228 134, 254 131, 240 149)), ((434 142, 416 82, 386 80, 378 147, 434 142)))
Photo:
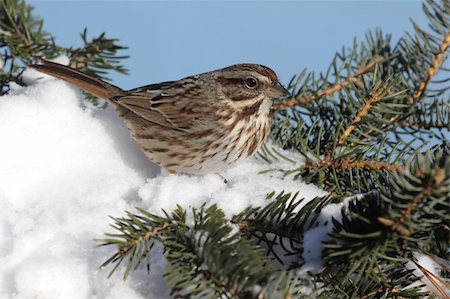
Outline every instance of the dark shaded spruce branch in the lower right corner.
MULTIPOLYGON (((379 294, 380 281, 385 293, 397 288, 397 295, 407 290, 420 294, 410 287, 419 278, 405 274, 409 271, 405 263, 415 248, 436 251, 435 233, 450 221, 448 169, 450 156, 442 149, 419 153, 388 179, 379 196, 350 202, 342 220, 333 221, 332 239, 324 246, 324 259, 334 279, 347 281, 361 296, 379 294), (345 262, 350 259, 353 264, 345 262), (399 285, 404 286, 400 293, 399 285)), ((440 242, 448 247, 448 239, 440 242)))

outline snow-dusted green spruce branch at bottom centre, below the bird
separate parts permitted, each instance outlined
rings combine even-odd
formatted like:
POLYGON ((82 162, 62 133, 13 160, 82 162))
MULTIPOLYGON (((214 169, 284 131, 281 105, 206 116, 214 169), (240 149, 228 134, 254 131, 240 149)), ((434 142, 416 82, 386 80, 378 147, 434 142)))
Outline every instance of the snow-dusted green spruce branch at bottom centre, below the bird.
POLYGON ((177 297, 254 297, 255 287, 266 285, 275 274, 261 248, 233 233, 215 205, 193 209, 193 223, 181 207, 165 217, 138 211, 113 218, 118 232, 99 240, 102 246, 117 246, 117 252, 102 266, 115 264, 114 272, 128 258, 124 278, 130 269, 150 259, 155 241, 164 246, 169 263, 164 277, 177 297))

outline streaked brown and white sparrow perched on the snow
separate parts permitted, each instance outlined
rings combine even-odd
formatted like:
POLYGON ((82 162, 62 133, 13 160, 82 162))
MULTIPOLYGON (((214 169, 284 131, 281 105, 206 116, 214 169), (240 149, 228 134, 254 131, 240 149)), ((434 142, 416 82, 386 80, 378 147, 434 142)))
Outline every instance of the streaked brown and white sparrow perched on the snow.
POLYGON ((128 91, 52 62, 31 67, 106 99, 147 157, 171 173, 217 173, 254 154, 270 131, 272 99, 289 94, 258 64, 128 91))

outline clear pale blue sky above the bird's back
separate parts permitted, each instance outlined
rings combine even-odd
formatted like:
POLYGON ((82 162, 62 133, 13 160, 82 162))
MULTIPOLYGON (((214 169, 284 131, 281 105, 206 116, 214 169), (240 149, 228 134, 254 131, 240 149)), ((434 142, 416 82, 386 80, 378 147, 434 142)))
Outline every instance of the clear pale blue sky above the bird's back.
POLYGON ((106 31, 129 47, 129 89, 176 80, 227 65, 273 68, 281 81, 301 69, 325 70, 333 54, 368 29, 396 41, 426 24, 420 1, 42 1, 29 0, 58 44, 79 46, 79 33, 106 31))

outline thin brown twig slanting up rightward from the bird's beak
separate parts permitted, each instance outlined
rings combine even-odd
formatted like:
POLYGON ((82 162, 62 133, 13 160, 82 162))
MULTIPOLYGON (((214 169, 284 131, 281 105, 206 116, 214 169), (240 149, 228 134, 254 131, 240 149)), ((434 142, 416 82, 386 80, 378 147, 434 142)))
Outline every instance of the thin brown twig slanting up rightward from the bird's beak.
POLYGON ((355 83, 359 80, 359 78, 364 75, 365 73, 367 73, 368 71, 370 71, 376 64, 380 63, 381 61, 383 61, 384 58, 381 56, 376 56, 374 57, 372 60, 370 60, 367 64, 363 65, 362 67, 359 68, 359 70, 353 74, 352 76, 348 77, 347 80, 342 81, 342 82, 338 82, 328 88, 325 88, 323 90, 319 90, 316 91, 313 94, 310 95, 305 95, 305 96, 300 96, 300 97, 295 97, 295 98, 291 98, 291 99, 287 99, 279 104, 273 105, 272 106, 272 110, 279 110, 279 109, 284 109, 284 108, 289 108, 289 107, 293 107, 295 105, 305 105, 310 103, 311 101, 315 100, 315 99, 319 99, 322 98, 324 96, 333 94, 339 90, 341 90, 343 87, 351 84, 351 83, 355 83))

